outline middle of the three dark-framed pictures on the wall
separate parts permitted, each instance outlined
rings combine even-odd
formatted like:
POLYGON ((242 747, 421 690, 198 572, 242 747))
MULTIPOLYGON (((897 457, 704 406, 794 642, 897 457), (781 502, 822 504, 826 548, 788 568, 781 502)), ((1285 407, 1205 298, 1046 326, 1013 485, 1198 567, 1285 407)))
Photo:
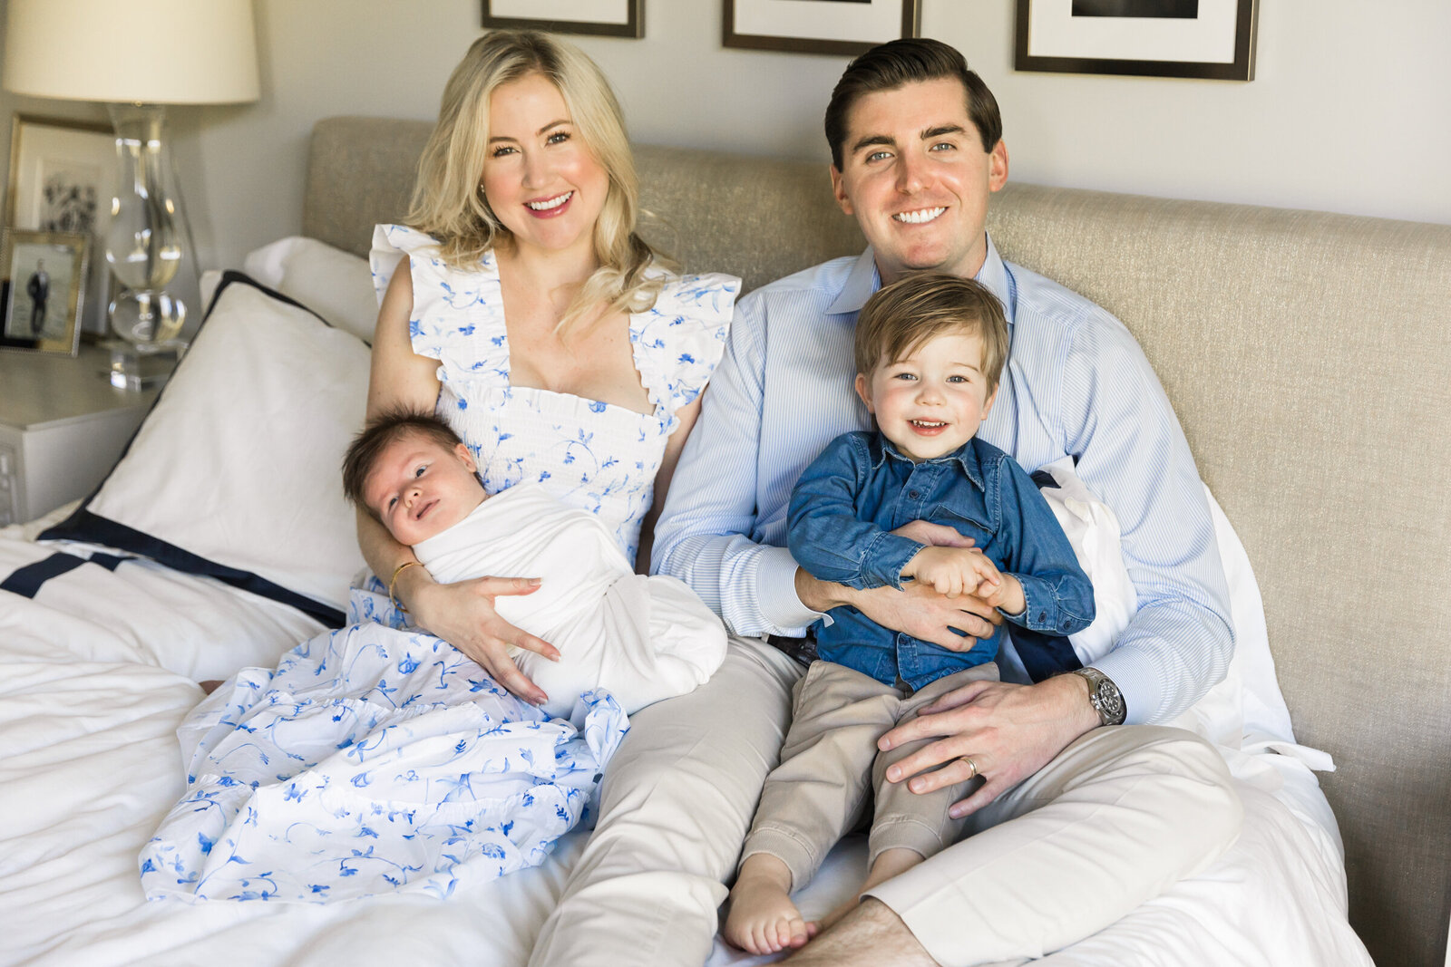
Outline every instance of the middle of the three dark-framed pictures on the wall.
POLYGON ((724 45, 856 57, 921 30, 921 0, 726 0, 724 45))

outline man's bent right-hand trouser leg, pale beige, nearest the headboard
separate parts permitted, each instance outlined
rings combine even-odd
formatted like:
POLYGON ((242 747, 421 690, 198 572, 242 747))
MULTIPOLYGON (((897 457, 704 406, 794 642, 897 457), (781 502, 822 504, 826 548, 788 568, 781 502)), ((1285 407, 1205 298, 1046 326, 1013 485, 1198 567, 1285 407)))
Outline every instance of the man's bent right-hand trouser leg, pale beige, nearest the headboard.
POLYGON ((1042 957, 1203 871, 1242 819, 1225 760, 1197 735, 1100 728, 868 895, 943 967, 1042 957))

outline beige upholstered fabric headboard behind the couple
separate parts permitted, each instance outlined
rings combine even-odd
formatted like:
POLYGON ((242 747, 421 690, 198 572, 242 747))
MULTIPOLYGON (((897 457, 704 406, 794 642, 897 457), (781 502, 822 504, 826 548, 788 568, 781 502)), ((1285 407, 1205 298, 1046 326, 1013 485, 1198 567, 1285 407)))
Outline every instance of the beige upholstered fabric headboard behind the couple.
MULTIPOLYGON (((305 231, 403 212, 421 122, 313 133, 305 231)), ((860 251, 821 165, 638 148, 651 238, 746 289, 860 251)), ((1329 751, 1351 922, 1441 963, 1451 908, 1451 226, 1008 186, 1004 257, 1135 332, 1265 599, 1302 742, 1329 751)))

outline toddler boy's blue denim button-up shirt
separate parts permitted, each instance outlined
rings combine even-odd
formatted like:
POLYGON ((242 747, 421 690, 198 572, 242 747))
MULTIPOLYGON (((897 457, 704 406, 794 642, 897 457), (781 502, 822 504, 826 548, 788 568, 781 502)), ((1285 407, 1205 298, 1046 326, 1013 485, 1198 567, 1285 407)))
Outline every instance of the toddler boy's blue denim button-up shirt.
MULTIPOLYGON (((1093 586, 1048 502, 1017 461, 981 439, 914 462, 879 433, 843 433, 801 474, 789 519, 791 554, 818 580, 900 590, 903 567, 924 545, 891 531, 930 520, 972 538, 1000 571, 1023 584, 1027 607, 1004 618, 1039 632, 1024 638, 1051 641, 1093 622, 1093 586)), ((913 689, 992 661, 1004 634, 997 628, 971 651, 956 652, 888 631, 852 606, 833 607, 827 618, 815 626, 821 658, 913 689)), ((1059 641, 1048 664, 1078 667, 1059 641)), ((1027 642, 1014 636, 1014 644, 1022 652, 1027 642)))

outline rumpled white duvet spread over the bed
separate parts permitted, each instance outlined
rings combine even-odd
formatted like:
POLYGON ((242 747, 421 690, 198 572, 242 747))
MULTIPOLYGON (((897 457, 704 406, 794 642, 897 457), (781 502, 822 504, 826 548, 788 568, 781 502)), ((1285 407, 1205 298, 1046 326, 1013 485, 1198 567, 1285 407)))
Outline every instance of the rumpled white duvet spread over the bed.
MULTIPOLYGON (((54 552, 0 536, 0 578, 54 552)), ((207 580, 83 565, 35 596, 0 592, 0 963, 524 964, 583 844, 438 900, 331 905, 147 902, 144 847, 181 797, 176 729, 199 677, 268 665, 319 629, 207 580)), ((1248 731, 1248 726, 1246 726, 1248 731)), ((1368 964, 1345 921, 1339 837, 1313 773, 1273 738, 1225 748, 1245 834, 1203 874, 1040 963, 1368 964)), ((839 847, 798 897, 807 915, 860 879, 839 847)), ((763 963, 717 942, 712 967, 763 963)))

